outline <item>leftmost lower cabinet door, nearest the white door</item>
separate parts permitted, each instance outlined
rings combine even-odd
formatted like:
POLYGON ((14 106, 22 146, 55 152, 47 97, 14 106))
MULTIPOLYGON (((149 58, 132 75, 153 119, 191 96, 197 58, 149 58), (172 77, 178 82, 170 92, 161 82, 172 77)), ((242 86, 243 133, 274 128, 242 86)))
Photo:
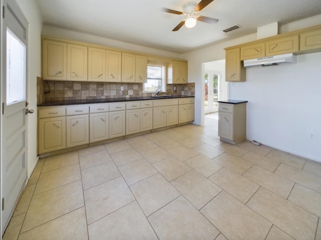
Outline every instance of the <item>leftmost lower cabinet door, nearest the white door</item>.
POLYGON ((39 119, 39 154, 66 148, 66 117, 39 119))

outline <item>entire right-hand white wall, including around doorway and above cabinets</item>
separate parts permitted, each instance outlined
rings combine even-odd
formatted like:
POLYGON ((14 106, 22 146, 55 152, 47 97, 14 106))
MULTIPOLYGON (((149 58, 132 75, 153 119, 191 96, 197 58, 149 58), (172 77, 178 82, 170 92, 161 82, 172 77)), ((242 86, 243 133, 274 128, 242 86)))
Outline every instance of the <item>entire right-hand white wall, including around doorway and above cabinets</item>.
MULTIPOLYGON (((318 25, 321 15, 280 26, 281 32, 318 25), (302 27, 303 26, 303 27, 302 27)), ((195 124, 204 123, 205 62, 225 58, 224 48, 256 40, 256 34, 183 54, 195 82, 195 124)), ((247 70, 246 82, 228 83, 229 98, 248 100, 247 139, 321 162, 321 53, 297 56, 293 65, 247 70), (309 140, 309 133, 315 140, 309 140)))

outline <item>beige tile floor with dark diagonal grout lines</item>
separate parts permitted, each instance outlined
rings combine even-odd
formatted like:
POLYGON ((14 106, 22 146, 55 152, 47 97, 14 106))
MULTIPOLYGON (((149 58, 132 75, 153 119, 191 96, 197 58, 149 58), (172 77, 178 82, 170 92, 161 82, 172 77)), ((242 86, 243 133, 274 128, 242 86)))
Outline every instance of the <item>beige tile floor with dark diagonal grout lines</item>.
POLYGON ((217 128, 40 159, 4 239, 321 239, 321 164, 217 128))

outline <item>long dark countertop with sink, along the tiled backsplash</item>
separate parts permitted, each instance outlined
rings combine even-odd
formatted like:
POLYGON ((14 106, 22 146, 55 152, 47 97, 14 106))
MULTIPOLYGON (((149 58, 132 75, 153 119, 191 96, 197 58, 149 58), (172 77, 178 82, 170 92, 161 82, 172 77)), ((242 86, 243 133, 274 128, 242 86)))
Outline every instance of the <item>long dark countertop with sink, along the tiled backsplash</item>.
POLYGON ((104 98, 104 99, 81 99, 81 100, 59 100, 59 101, 44 101, 38 106, 57 106, 57 105, 76 105, 76 104, 90 104, 90 103, 106 103, 106 102, 120 102, 120 101, 141 101, 141 100, 157 100, 157 99, 172 99, 194 97, 189 95, 176 95, 170 97, 119 97, 119 98, 104 98))

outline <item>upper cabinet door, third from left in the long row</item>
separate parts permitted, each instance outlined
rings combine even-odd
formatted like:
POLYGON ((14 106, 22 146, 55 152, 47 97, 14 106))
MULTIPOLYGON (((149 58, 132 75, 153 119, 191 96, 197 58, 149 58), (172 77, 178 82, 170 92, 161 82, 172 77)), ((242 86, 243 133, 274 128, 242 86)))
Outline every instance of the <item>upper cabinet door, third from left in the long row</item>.
POLYGON ((88 48, 88 81, 106 81, 106 50, 88 48))

